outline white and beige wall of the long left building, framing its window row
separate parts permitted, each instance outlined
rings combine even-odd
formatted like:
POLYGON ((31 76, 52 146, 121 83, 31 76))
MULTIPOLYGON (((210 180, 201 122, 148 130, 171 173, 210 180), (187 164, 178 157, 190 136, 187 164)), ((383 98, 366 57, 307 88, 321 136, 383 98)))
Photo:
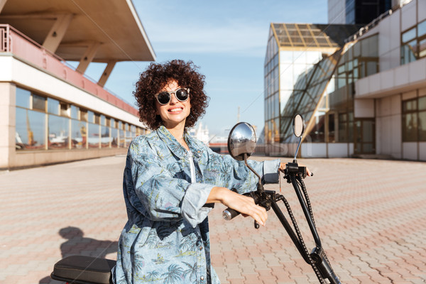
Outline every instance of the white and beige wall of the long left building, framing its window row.
POLYGON ((0 54, 0 66, 0 169, 98 158, 124 154, 127 150, 124 147, 16 151, 16 87, 28 89, 61 102, 69 102, 131 125, 142 126, 137 116, 10 53, 0 54))

